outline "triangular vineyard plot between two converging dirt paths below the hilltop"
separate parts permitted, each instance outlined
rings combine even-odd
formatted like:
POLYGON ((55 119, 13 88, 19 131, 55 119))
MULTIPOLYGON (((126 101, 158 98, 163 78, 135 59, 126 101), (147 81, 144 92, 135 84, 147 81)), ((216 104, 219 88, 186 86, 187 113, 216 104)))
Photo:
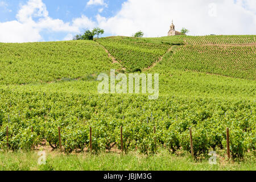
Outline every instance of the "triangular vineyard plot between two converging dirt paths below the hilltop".
POLYGON ((132 39, 125 37, 102 38, 97 40, 130 71, 150 67, 160 59, 171 43, 156 42, 152 39, 132 39))

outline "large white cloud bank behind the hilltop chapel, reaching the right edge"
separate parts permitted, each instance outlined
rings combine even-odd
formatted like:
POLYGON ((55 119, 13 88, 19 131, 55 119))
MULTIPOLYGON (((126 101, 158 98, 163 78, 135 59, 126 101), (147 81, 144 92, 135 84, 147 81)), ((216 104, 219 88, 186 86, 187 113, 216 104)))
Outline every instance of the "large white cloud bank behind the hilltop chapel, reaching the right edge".
POLYGON ((97 20, 113 35, 131 36, 142 30, 145 36, 167 36, 172 19, 178 31, 185 27, 190 35, 255 34, 254 9, 254 0, 128 0, 115 16, 97 15, 97 20), (216 16, 209 16, 210 3, 216 4, 216 16))

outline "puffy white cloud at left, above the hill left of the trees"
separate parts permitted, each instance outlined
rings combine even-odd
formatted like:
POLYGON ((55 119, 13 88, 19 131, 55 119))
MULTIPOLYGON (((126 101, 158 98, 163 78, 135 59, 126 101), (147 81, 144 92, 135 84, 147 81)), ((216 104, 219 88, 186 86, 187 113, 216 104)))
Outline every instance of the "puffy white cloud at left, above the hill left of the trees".
POLYGON ((44 30, 75 34, 81 28, 92 28, 96 24, 84 15, 67 23, 52 19, 42 0, 28 0, 26 5, 20 7, 16 19, 0 22, 0 42, 38 42, 43 40, 40 32, 44 30), (35 21, 34 18, 39 19, 35 21))

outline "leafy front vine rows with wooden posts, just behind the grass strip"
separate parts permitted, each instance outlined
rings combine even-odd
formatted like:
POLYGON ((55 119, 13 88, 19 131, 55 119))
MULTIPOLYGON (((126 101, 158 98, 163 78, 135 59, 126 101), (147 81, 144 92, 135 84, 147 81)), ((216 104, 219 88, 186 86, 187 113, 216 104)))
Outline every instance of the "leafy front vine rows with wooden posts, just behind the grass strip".
POLYGON ((189 127, 193 129, 195 155, 207 155, 210 149, 225 147, 225 129, 231 131, 234 158, 255 151, 255 103, 201 98, 85 96, 60 93, 1 93, 1 148, 6 148, 6 126, 11 150, 31 150, 46 139, 59 147, 58 127, 65 152, 84 150, 89 145, 89 127, 93 130, 93 150, 121 148, 126 152, 154 154, 159 147, 175 152, 190 151, 189 127), (12 98, 12 99, 10 99, 12 98), (33 132, 31 132, 33 127, 33 132), (154 133, 155 127, 155 133, 154 133))

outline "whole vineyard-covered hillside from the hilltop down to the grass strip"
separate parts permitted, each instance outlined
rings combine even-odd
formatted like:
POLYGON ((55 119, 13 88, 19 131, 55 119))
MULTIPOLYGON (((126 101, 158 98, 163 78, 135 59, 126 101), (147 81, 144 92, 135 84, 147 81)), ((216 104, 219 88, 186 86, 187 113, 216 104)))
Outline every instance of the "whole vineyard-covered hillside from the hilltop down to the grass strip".
POLYGON ((95 154, 191 153, 191 128, 195 157, 208 158, 209 151, 226 150, 228 127, 232 158, 255 159, 253 43, 255 36, 1 43, 0 148, 31 151, 46 141, 66 154, 90 148, 95 154), (160 74, 158 100, 98 94, 97 75, 121 68, 104 47, 127 72, 160 59, 144 72, 160 74))

